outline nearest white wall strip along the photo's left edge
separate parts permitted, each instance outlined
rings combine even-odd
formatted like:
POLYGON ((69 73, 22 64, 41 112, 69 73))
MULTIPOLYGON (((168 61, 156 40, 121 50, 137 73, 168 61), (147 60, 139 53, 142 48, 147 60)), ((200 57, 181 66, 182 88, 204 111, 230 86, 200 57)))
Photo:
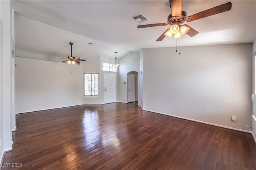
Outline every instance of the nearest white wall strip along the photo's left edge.
POLYGON ((12 1, 0 1, 0 161, 12 148, 12 1))

